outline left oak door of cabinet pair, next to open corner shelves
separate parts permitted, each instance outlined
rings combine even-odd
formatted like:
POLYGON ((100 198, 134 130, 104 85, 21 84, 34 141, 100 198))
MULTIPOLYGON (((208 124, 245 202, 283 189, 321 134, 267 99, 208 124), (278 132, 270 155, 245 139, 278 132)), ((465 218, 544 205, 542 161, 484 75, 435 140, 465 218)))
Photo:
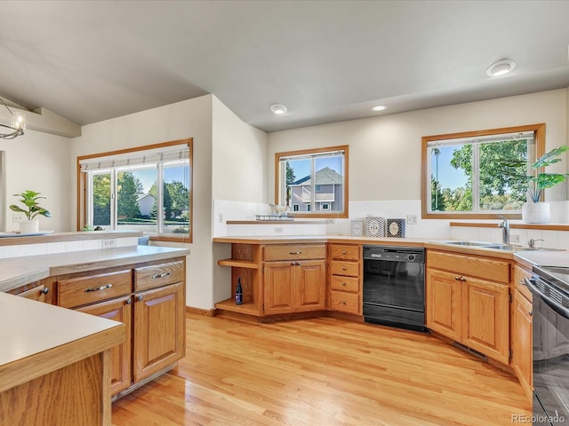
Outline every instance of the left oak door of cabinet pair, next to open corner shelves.
POLYGON ((296 262, 266 262, 264 264, 264 313, 294 312, 294 268, 296 262))

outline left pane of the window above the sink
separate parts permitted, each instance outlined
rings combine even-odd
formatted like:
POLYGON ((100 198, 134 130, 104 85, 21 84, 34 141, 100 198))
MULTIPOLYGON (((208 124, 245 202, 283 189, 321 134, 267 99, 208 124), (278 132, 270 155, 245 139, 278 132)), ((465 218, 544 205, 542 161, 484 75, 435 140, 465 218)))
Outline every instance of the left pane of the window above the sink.
POLYGON ((472 210, 472 146, 429 148, 431 211, 472 210))

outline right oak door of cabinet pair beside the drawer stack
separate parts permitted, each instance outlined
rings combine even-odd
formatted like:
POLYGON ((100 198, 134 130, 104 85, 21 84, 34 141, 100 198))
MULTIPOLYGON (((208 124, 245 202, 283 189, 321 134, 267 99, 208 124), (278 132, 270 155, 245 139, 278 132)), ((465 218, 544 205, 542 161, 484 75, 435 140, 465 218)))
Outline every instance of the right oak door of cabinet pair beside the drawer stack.
POLYGON ((296 312, 326 309, 326 263, 324 260, 302 260, 294 266, 296 312))

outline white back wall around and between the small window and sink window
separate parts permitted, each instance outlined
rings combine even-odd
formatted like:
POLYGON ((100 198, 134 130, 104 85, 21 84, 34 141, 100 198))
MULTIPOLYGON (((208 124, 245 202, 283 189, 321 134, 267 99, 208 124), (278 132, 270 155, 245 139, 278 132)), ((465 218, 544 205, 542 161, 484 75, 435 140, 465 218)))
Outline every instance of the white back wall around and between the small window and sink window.
MULTIPOLYGON (((545 122, 549 150, 566 143, 567 121, 561 89, 269 133, 268 200, 277 152, 348 144, 350 201, 421 200, 421 137, 545 122)), ((565 186, 546 198, 565 200, 565 186)))

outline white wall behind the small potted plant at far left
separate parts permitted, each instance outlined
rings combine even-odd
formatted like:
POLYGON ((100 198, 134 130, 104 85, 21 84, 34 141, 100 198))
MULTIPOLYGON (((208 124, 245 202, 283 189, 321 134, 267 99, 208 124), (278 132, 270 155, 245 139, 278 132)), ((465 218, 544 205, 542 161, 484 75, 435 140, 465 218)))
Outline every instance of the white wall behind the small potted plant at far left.
POLYGON ((4 184, 0 187, 0 231, 18 230, 12 222, 10 204, 19 204, 19 197, 12 194, 25 190, 36 191, 46 197, 40 206, 48 209, 52 217, 37 217, 41 231, 65 232, 74 229, 69 206, 75 202, 73 182, 68 179, 75 167, 69 155, 69 138, 26 130, 23 136, 12 140, 0 139, 0 151, 4 151, 4 184))

